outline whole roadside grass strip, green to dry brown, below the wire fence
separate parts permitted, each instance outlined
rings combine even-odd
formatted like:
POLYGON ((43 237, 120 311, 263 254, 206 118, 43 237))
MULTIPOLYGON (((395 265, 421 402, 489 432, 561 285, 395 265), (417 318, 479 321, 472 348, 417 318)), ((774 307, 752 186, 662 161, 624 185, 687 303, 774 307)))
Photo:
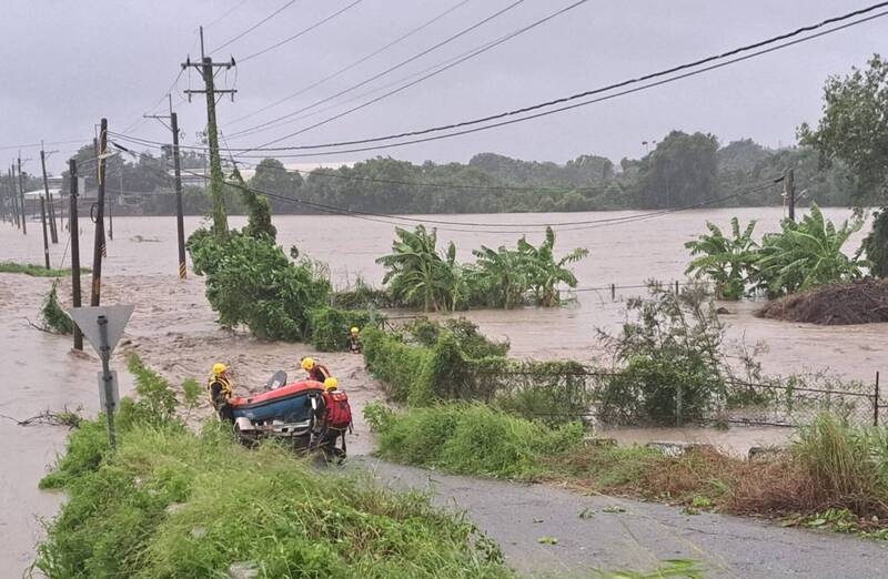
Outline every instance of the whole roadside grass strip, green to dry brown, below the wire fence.
POLYGON ((366 414, 379 433, 379 455, 398 463, 567 482, 679 504, 688 512, 713 509, 886 535, 888 436, 826 415, 786 451, 745 460, 710 448, 669 457, 637 446, 587 445, 577 425, 548 427, 483 405, 404 413, 371 406, 366 414))

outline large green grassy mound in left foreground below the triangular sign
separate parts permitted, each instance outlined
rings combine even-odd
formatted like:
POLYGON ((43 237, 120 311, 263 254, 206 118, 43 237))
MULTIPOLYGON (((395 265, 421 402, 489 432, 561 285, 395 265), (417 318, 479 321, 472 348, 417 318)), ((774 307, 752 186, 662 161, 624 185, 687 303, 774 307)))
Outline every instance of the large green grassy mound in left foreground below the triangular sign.
POLYGON ((117 451, 102 417, 85 420, 41 482, 68 495, 38 550, 48 577, 512 577, 490 539, 425 496, 316 471, 273 444, 248 450, 215 421, 194 434, 165 403, 147 406, 172 389, 131 366, 143 393, 121 408, 138 412, 117 451))

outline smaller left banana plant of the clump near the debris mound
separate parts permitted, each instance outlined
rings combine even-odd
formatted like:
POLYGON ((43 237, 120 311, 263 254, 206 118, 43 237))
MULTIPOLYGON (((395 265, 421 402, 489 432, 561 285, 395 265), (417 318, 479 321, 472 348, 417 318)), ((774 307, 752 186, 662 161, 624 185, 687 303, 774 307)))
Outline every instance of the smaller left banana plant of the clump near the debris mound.
POLYGON ((739 299, 746 293, 747 281, 755 274, 758 258, 757 244, 753 241, 756 222, 750 221, 741 233, 739 221, 731 217, 730 237, 725 236, 712 222, 707 221, 706 227, 709 234, 685 243, 690 255, 697 256, 687 266, 685 274, 708 277, 715 283, 716 296, 722 299, 739 299))

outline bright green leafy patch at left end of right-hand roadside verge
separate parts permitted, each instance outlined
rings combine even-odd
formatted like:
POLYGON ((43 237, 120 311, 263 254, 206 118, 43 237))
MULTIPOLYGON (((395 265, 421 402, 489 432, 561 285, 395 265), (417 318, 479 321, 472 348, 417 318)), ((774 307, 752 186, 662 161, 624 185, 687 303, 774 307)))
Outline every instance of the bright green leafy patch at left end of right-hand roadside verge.
MULTIPOLYGON (((375 412, 375 410, 374 410, 375 412)), ((547 427, 481 404, 442 404, 387 416, 377 451, 383 458, 497 478, 531 478, 543 458, 569 451, 583 427, 547 427)))

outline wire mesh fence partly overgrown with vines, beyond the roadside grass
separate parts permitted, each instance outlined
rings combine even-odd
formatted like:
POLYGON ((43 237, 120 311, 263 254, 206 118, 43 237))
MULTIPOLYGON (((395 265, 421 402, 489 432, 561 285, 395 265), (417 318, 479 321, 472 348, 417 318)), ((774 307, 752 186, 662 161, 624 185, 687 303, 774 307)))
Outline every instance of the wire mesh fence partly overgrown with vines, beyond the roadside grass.
POLYGON ((799 427, 831 413, 848 424, 878 426, 888 404, 879 374, 869 384, 815 385, 800 378, 750 383, 657 384, 620 372, 581 367, 546 372, 537 364, 473 373, 475 398, 547 421, 584 420, 622 426, 733 424, 799 427))

